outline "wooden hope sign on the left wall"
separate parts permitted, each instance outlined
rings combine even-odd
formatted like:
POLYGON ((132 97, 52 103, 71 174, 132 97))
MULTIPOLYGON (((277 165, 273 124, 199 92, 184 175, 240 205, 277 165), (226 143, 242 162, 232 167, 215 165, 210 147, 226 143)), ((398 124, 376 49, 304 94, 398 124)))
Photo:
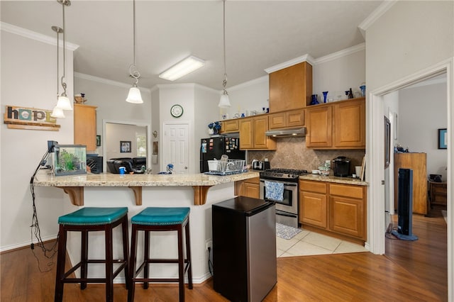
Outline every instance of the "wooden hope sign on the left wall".
POLYGON ((52 110, 6 106, 4 123, 12 129, 58 131, 60 125, 50 114, 52 110))

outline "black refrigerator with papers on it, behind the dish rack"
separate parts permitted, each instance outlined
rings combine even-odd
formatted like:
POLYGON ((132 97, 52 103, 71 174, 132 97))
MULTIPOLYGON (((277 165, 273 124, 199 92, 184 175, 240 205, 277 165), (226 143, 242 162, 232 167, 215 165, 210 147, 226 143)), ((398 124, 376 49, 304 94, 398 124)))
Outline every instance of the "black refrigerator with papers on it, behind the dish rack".
POLYGON ((245 160, 245 151, 240 150, 239 138, 218 136, 202 138, 200 142, 200 173, 208 172, 208 160, 221 160, 222 155, 229 160, 245 160))

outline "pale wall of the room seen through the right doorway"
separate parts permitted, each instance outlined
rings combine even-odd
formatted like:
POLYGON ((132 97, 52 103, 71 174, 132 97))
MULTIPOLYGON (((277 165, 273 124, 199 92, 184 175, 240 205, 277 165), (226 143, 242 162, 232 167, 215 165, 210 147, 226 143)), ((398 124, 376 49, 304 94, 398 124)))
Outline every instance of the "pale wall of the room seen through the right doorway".
POLYGON ((438 149, 438 129, 446 128, 446 84, 399 91, 398 142, 410 152, 427 153, 427 174, 446 180, 447 150, 438 149))

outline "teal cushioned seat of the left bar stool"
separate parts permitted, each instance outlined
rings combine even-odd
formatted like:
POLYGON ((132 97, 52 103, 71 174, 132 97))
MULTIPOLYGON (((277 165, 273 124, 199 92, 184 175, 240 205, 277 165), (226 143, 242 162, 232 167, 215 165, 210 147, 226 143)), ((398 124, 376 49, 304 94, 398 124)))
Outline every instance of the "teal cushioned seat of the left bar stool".
POLYGON ((63 225, 105 225, 114 223, 128 213, 128 208, 81 208, 58 218, 63 225))

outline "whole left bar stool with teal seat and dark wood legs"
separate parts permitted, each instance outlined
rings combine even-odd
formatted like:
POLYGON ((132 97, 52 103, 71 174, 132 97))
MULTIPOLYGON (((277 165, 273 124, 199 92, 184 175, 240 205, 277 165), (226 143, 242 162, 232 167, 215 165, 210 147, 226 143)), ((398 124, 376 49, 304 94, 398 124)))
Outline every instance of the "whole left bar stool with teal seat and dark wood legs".
POLYGON ((106 301, 114 301, 114 278, 124 269, 126 289, 128 288, 128 208, 81 208, 78 211, 60 216, 57 276, 55 278, 55 301, 62 301, 65 283, 80 283, 80 288, 87 288, 87 283, 105 283, 106 301), (123 237, 123 259, 113 259, 112 230, 121 224, 123 237), (104 231, 106 242, 105 259, 88 259, 88 233, 104 231), (80 262, 65 272, 67 232, 81 232, 80 262), (105 263, 105 278, 87 278, 88 264, 105 263), (121 264, 114 272, 114 264, 121 264), (69 278, 80 268, 80 278, 69 278))

